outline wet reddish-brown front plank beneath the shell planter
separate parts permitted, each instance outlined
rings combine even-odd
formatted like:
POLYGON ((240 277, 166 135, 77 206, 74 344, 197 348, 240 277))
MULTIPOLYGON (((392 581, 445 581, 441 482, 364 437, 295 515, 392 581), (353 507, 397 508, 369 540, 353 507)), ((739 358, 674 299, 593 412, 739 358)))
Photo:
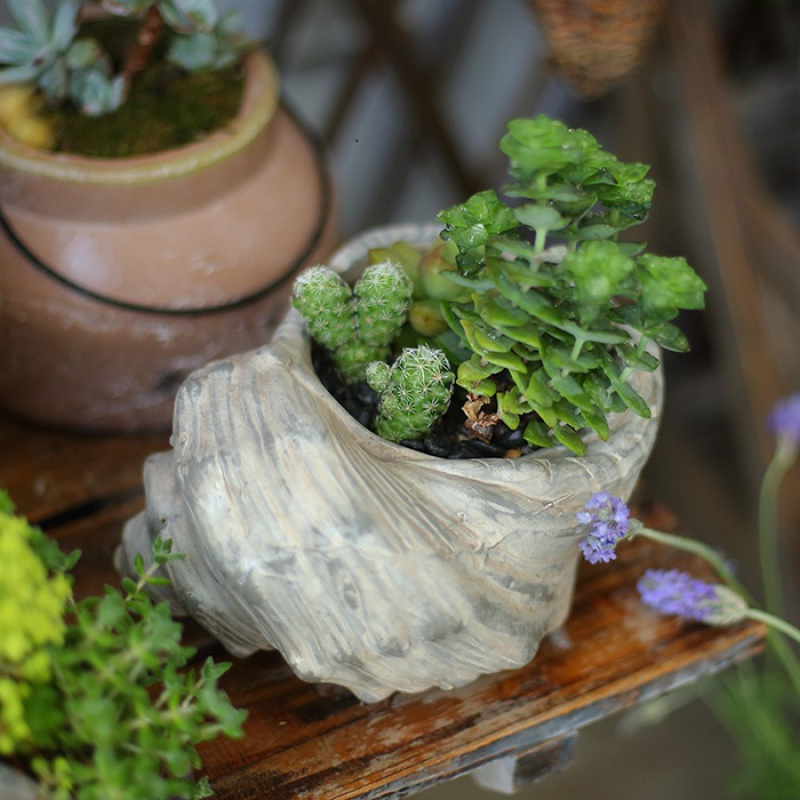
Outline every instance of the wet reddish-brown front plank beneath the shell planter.
POLYGON ((752 655, 763 630, 659 617, 639 602, 647 566, 707 571, 646 542, 582 570, 575 609, 528 667, 452 692, 359 704, 293 678, 275 656, 235 663, 226 686, 250 710, 241 742, 203 747, 221 800, 378 798, 417 791, 535 747, 752 655))

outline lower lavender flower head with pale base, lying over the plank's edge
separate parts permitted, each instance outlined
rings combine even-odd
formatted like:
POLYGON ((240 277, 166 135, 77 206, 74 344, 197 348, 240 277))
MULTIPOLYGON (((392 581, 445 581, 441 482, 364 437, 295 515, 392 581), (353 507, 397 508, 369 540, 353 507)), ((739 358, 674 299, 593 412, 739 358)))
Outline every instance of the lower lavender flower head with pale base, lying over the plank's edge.
POLYGON ((744 619, 748 610, 736 592, 677 569, 648 569, 637 588, 644 603, 656 611, 707 625, 730 625, 744 619))

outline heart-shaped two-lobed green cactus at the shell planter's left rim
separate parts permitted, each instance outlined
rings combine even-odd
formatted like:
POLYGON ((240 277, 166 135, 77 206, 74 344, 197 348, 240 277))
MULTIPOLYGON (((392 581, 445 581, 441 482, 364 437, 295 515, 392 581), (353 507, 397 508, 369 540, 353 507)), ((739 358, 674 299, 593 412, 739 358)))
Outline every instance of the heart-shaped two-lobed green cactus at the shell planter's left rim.
POLYGON ((354 289, 328 267, 303 272, 292 303, 327 348, 342 378, 363 381, 367 365, 389 357, 411 305, 411 281, 391 262, 367 267, 354 289))

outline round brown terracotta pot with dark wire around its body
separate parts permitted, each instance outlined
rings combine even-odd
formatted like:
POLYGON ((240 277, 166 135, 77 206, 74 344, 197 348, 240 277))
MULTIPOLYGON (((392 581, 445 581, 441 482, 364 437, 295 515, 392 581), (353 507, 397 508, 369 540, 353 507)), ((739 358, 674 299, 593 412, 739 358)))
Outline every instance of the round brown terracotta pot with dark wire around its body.
POLYGON ((169 425, 209 359, 269 340, 291 278, 333 236, 319 147, 249 56, 224 130, 88 159, 0 131, 0 404, 54 425, 169 425))

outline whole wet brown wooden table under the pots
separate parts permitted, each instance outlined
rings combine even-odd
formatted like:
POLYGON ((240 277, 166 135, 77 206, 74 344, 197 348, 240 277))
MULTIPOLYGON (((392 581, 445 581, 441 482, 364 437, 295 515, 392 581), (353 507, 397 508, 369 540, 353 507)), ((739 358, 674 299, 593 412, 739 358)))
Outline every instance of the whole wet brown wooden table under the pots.
MULTIPOLYGON (((78 595, 116 582, 111 556, 122 524, 144 504, 143 459, 167 446, 166 435, 81 437, 0 417, 0 487, 64 549, 82 550, 78 595)), ((656 504, 638 515, 674 526, 656 504)), ((249 711, 246 735, 200 748, 219 800, 404 795, 473 770, 484 785, 514 788, 568 762, 584 725, 761 649, 756 623, 717 629, 647 610, 635 584, 649 566, 711 577, 693 557, 625 543, 613 564, 583 565, 570 620, 532 664, 456 691, 364 705, 303 683, 275 653, 235 661, 223 686, 249 711)), ((199 655, 228 660, 193 623, 186 631, 199 655)))

